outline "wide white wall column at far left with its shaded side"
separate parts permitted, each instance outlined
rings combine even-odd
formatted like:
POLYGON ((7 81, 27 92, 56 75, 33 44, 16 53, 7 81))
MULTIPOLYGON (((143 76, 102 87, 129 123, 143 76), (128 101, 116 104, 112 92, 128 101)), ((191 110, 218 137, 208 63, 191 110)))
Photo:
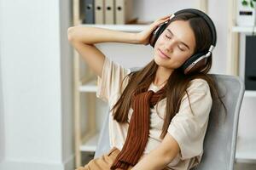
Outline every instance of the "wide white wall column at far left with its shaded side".
POLYGON ((68 3, 1 2, 4 127, 0 132, 5 153, 0 169, 73 167, 68 3))

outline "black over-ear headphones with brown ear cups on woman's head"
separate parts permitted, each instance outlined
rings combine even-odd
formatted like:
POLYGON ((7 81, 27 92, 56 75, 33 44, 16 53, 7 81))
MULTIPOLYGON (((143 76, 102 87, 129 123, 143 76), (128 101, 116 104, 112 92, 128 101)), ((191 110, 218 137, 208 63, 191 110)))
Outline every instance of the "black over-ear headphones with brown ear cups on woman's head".
MULTIPOLYGON (((192 13, 197 14, 201 16, 204 20, 206 20, 207 25, 209 26, 212 34, 212 44, 207 52, 201 52, 192 55, 187 59, 183 65, 180 67, 180 69, 183 70, 184 74, 187 74, 189 71, 194 71, 196 68, 200 67, 201 65, 206 65, 207 58, 212 54, 213 48, 215 48, 216 41, 217 41, 217 35, 216 35, 216 29, 215 26, 211 20, 211 18, 202 12, 201 10, 195 9, 195 8, 185 8, 182 10, 177 11, 175 14, 172 14, 170 17, 170 20, 177 14, 181 13, 192 13)), ((151 34, 151 37, 149 39, 150 45, 154 48, 154 44, 158 37, 160 37, 160 34, 166 29, 166 27, 170 24, 170 20, 167 20, 166 22, 162 23, 160 26, 158 26, 151 34)))

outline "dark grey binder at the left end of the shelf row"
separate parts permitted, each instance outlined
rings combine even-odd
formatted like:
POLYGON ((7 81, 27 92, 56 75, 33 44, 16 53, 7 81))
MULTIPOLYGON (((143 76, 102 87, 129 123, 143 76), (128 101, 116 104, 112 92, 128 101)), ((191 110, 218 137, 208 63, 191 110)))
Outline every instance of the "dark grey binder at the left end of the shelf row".
POLYGON ((94 0, 82 0, 84 24, 94 24, 94 0))

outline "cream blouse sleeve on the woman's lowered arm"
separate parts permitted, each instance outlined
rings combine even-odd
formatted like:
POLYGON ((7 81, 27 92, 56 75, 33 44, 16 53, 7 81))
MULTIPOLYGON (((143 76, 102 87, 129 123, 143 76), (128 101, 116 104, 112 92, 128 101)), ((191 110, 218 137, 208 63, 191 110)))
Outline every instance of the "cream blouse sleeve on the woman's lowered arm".
POLYGON ((195 79, 187 88, 180 109, 168 127, 168 133, 176 139, 181 159, 201 156, 203 141, 207 131, 209 113, 212 108, 212 96, 207 81, 195 79), (189 100, 192 111, 189 107, 189 100))

